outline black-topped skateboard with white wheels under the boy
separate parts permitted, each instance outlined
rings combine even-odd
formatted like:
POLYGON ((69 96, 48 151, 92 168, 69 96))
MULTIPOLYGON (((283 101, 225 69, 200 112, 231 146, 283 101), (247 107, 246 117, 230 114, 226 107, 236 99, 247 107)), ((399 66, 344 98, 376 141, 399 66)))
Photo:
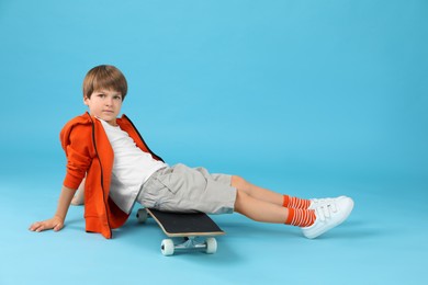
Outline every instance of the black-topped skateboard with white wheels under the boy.
POLYGON ((199 250, 213 254, 217 251, 214 236, 225 232, 204 213, 171 213, 153 208, 140 208, 137 212, 138 223, 145 223, 151 217, 164 233, 170 239, 164 239, 160 251, 164 255, 172 255, 177 251, 199 250), (182 238, 181 243, 174 243, 172 238, 182 238))

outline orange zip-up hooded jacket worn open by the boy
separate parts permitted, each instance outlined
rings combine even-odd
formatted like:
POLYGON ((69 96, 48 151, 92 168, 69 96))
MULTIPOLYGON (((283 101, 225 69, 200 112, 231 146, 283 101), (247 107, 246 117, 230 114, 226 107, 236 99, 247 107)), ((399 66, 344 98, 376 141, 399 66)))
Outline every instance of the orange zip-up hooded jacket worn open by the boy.
MULTIPOLYGON (((128 117, 122 115, 117 124, 143 151, 156 156, 146 145, 128 117)), ((60 132, 60 141, 67 156, 64 185, 78 189, 85 183, 85 219, 88 232, 99 232, 112 238, 112 229, 121 227, 128 218, 109 197, 114 153, 101 122, 89 113, 69 121, 60 132)))

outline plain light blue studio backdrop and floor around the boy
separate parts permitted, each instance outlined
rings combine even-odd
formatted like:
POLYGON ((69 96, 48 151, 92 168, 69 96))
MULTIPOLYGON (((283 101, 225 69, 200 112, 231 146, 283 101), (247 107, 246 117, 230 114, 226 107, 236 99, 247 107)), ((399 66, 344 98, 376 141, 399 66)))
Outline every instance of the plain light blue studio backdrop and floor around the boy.
POLYGON ((428 253, 427 50, 424 0, 1 0, 0 284, 66 272, 95 282, 100 274, 87 269, 114 254, 132 263, 114 259, 106 271, 127 269, 128 281, 167 280, 161 272, 171 267, 199 283, 427 281, 418 263, 428 253), (166 261, 151 247, 162 237, 156 226, 129 221, 132 233, 104 241, 83 233, 81 208, 70 209, 60 236, 27 232, 55 210, 65 162, 58 133, 86 111, 81 82, 100 64, 125 73, 123 113, 169 163, 307 197, 350 195, 356 210, 343 235, 311 243, 292 228, 222 216, 229 235, 217 254, 166 261), (22 264, 26 255, 38 258, 22 264), (311 274, 307 258, 330 265, 317 272, 314 262, 311 274), (61 259, 86 260, 82 275, 61 259))

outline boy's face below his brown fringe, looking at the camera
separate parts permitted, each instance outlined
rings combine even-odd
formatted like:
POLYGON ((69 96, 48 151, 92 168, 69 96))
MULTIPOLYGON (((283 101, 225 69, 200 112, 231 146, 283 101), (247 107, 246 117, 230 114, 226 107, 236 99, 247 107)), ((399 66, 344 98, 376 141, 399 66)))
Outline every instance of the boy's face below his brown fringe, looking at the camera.
POLYGON ((91 98, 85 98, 83 102, 89 106, 89 113, 110 125, 116 125, 116 117, 122 107, 122 94, 114 90, 93 91, 91 98))

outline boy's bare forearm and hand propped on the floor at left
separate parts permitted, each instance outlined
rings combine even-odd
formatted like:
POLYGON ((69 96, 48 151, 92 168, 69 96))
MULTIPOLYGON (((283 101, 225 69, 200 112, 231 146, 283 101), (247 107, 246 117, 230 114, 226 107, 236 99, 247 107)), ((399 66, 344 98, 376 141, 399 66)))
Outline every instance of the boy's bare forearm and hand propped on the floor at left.
POLYGON ((55 231, 58 231, 63 229, 64 221, 66 219, 67 212, 70 206, 71 200, 75 196, 75 193, 76 190, 63 186, 55 216, 50 219, 34 223, 30 226, 30 230, 42 231, 47 229, 54 229, 55 231))

